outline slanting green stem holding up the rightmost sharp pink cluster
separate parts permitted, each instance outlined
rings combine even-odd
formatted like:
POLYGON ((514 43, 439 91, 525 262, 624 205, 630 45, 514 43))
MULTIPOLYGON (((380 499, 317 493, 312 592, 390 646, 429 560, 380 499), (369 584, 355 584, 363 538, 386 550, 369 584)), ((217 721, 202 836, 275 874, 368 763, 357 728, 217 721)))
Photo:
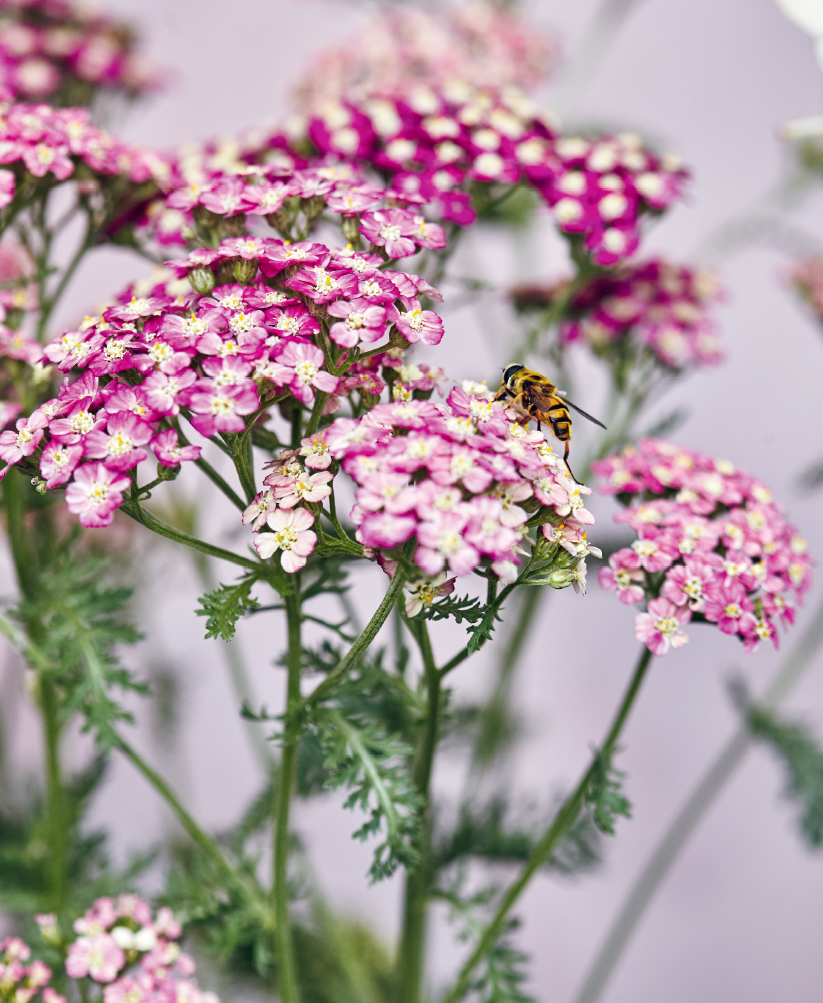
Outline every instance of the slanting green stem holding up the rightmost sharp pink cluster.
POLYGON ((603 740, 599 752, 592 757, 591 762, 585 773, 583 773, 580 778, 579 783, 568 795, 565 801, 563 801, 563 804, 557 812, 554 821, 551 823, 540 842, 535 846, 528 862, 524 865, 515 881, 509 885, 503 895, 499 907, 497 908, 494 918, 483 931, 477 947, 471 953, 471 956, 465 965, 463 965, 457 981, 444 997, 443 1003, 457 1003, 458 1000, 461 1000, 465 996, 469 989, 470 979, 475 968, 480 964, 483 957, 488 953, 489 949, 500 935, 511 907, 520 898, 523 890, 537 871, 549 859, 557 847, 557 844, 563 839, 569 828, 571 828, 576 821, 577 815, 580 813, 580 809, 585 801, 585 795, 588 792, 589 784, 591 783, 594 772, 597 769, 598 761, 607 761, 614 751, 614 746, 616 745, 618 739, 620 738, 621 732, 623 731, 624 725, 629 717, 629 713, 634 706, 638 693, 640 692, 641 685, 649 669, 651 661, 652 652, 645 647, 641 653, 635 672, 629 683, 629 687, 627 688, 624 698, 621 701, 621 705, 614 715, 611 727, 608 729, 608 733, 603 740))

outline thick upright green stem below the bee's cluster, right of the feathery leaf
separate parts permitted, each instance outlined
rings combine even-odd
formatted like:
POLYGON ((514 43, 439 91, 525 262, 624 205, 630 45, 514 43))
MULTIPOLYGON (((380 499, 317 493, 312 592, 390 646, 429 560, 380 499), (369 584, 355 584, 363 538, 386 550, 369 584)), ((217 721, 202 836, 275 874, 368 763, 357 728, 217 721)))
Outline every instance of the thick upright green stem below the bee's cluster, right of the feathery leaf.
POLYGON ((434 663, 431 640, 425 620, 410 622, 409 629, 423 658, 428 693, 426 720, 415 756, 413 772, 414 784, 426 806, 420 839, 420 862, 406 876, 398 984, 402 1003, 419 1003, 425 972, 426 919, 432 879, 432 819, 429 813, 429 787, 440 730, 441 675, 434 663))

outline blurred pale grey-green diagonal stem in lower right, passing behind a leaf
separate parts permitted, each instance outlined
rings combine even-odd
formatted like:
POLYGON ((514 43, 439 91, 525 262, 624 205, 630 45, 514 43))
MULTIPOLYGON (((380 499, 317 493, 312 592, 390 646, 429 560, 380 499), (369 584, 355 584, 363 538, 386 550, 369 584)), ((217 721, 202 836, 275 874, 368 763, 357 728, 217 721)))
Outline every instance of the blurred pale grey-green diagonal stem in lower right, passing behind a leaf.
MULTIPOLYGON (((760 705, 774 708, 788 695, 823 644, 823 604, 796 648, 769 684, 760 705)), ((596 1003, 638 924, 683 848, 752 745, 748 728, 733 735, 675 816, 638 877, 588 970, 576 1003, 596 1003)))

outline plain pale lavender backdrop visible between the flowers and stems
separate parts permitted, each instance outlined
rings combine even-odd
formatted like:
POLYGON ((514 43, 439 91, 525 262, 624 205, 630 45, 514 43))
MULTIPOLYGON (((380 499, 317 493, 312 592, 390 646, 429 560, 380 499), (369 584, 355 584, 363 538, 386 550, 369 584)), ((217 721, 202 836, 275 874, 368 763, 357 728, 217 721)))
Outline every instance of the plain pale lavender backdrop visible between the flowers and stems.
MULTIPOLYGON (((135 109, 122 129, 130 139, 155 145, 281 118, 288 89, 308 59, 321 46, 352 36, 373 9, 343 0, 109 0, 108 7, 140 24, 148 54, 173 68, 167 93, 135 109)), ((525 7, 573 53, 595 4, 535 0, 525 7)), ((773 0, 646 0, 637 4, 568 119, 636 127, 681 152, 695 172, 689 198, 650 235, 647 251, 689 260, 701 245, 704 255, 719 259, 707 235, 729 217, 762 205, 784 158, 776 128, 818 113, 822 83, 811 41, 783 18, 773 0)), ((550 89, 542 103, 551 106, 550 89)), ((816 194, 791 218, 823 234, 816 194)), ((719 311, 728 360, 678 388, 661 413, 687 404, 691 417, 678 439, 761 476, 789 508, 812 554, 820 555, 823 496, 801 494, 796 478, 823 454, 823 340, 781 281, 787 262, 763 244, 720 261, 729 292, 719 311)), ((483 274, 501 285, 562 271, 562 245, 544 220, 520 250, 499 234, 478 235, 455 266, 458 274, 483 274)), ((134 275, 126 253, 99 253, 78 276, 60 320, 71 322, 134 275)), ((493 297, 480 309, 448 313, 437 362, 455 378, 491 378, 507 361, 511 325, 493 297)), ((604 385, 593 368, 583 365, 580 375, 585 387, 580 402, 597 413, 604 385)), ((189 478, 187 486, 194 490, 199 484, 189 478)), ((242 546, 244 535, 220 499, 207 493, 201 500, 203 525, 222 521, 227 539, 234 536, 242 546)), ((608 506, 598 505, 603 529, 609 513, 608 506)), ((595 542, 596 535, 595 528, 595 542)), ((137 611, 149 640, 128 659, 155 678, 173 666, 180 686, 174 741, 163 737, 147 707, 139 712, 136 740, 175 781, 203 824, 228 825, 254 793, 261 772, 246 725, 233 710, 220 646, 202 640, 202 621, 191 612, 193 597, 202 590, 184 555, 142 537, 134 542, 152 549, 141 573, 137 611)), ((217 574, 229 580, 225 569, 217 574)), ((381 589, 375 572, 358 578, 356 601, 363 614, 381 589)), ((820 594, 818 586, 801 628, 820 594)), ((636 658, 633 619, 596 584, 585 598, 567 591, 544 605, 516 686, 527 733, 506 767, 511 788, 523 797, 545 804, 582 768, 636 658)), ((444 655, 460 643, 461 629, 450 626, 438 625, 435 632, 444 655)), ((272 665, 283 635, 282 623, 261 618, 244 624, 237 642, 253 670, 256 697, 270 708, 280 706, 285 682, 272 665)), ((458 694, 468 699, 484 693, 491 664, 486 649, 455 673, 458 694)), ((773 653, 746 656, 731 639, 706 628, 693 629, 683 651, 656 661, 619 760, 629 773, 635 817, 620 823, 599 872, 574 883, 541 876, 518 910, 524 921, 520 943, 532 955, 533 990, 540 1000, 573 998, 631 883, 732 733, 735 714, 725 688, 730 673, 740 668, 759 690, 778 664, 773 653)), ((823 734, 821 670, 818 658, 787 706, 823 734)), ((0 708, 14 761, 36 772, 37 723, 12 656, 3 673, 2 692, 16 690, 0 708)), ((87 754, 87 743, 72 738, 75 761, 87 754)), ((457 766, 446 762, 435 777, 436 789, 454 791, 460 778, 457 766)), ((811 1003, 820 998, 823 856, 801 846, 794 812, 779 798, 781 783, 769 754, 757 750, 748 756, 668 877, 604 1000, 811 1003)), ((110 827, 120 860, 173 830, 160 801, 125 762, 114 764, 92 813, 94 823, 110 827)), ((299 803, 296 818, 333 904, 393 934, 400 882, 367 888, 369 852, 348 839, 354 819, 340 811, 339 800, 299 803)), ((461 950, 442 916, 433 924, 430 945, 433 984, 439 987, 461 950)))

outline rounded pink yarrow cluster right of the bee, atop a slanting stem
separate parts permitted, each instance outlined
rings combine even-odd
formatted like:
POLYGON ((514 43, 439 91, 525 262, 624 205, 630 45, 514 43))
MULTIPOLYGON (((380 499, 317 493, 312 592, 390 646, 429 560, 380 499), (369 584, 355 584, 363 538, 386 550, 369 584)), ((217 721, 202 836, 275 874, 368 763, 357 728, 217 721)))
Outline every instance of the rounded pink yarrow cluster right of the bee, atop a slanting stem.
POLYGON ((614 520, 638 539, 609 558, 600 585, 621 602, 649 600, 636 634, 656 655, 688 641, 690 621, 717 624, 746 651, 778 645, 811 586, 806 542, 772 492, 725 460, 660 439, 598 460, 600 490, 627 506, 614 520))

